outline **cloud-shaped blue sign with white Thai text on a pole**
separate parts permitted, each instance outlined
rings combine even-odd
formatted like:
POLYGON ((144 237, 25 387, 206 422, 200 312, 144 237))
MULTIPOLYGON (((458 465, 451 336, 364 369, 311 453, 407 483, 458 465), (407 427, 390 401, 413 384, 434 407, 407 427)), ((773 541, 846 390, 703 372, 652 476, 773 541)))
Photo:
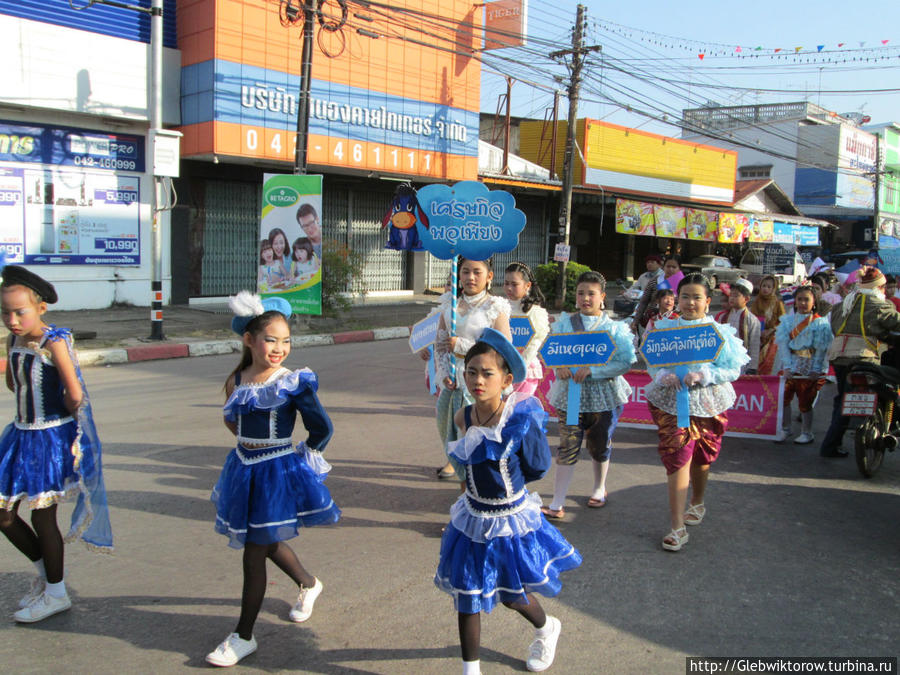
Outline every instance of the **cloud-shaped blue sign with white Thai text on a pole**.
POLYGON ((432 183, 416 199, 425 218, 416 227, 423 246, 436 258, 461 255, 487 260, 495 253, 512 251, 525 228, 525 214, 515 198, 503 190, 489 190, 474 180, 456 185, 432 183))

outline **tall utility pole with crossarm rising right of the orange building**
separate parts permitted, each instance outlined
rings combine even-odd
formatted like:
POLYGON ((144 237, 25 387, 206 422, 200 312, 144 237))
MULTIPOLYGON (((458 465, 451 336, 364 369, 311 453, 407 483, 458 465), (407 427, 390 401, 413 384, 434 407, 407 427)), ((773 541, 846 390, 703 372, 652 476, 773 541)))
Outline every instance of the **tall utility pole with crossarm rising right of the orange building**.
MULTIPOLYGON (((584 55, 597 51, 599 47, 584 46, 584 26, 587 8, 578 5, 575 15, 575 30, 572 32, 572 49, 556 51, 550 54, 552 59, 572 56, 569 67, 569 117, 566 124, 566 149, 563 157, 563 189, 559 203, 559 238, 558 242, 569 245, 569 227, 572 222, 572 184, 575 163, 575 124, 578 118, 578 95, 581 91, 581 70, 584 67, 584 55)), ((556 284, 556 309, 562 309, 566 302, 566 261, 559 261, 559 279, 556 284)))

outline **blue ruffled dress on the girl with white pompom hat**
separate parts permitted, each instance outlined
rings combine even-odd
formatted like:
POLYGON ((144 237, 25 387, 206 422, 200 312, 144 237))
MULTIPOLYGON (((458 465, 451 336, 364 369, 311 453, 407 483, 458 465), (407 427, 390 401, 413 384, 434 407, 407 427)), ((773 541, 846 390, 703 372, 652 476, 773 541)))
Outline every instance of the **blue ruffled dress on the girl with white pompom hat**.
POLYGON ((316 396, 316 374, 281 368, 266 382, 240 384, 238 373, 235 385, 224 413, 237 425, 237 446, 212 492, 216 532, 242 548, 296 537, 301 526, 337 522, 341 510, 325 486, 331 466, 321 454, 333 427, 316 396), (298 411, 309 438, 294 447, 298 411))

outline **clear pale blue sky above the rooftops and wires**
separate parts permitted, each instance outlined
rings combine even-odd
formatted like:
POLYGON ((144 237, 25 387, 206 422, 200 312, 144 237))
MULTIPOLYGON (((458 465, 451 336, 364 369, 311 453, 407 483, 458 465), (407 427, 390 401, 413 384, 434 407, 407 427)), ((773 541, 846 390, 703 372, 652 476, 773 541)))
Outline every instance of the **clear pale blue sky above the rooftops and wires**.
MULTIPOLYGON (((708 101, 747 105, 808 100, 837 113, 862 112, 872 123, 900 121, 900 4, 583 4, 586 44, 599 45, 602 51, 588 58, 579 117, 678 136, 680 129, 667 122, 676 120, 683 108, 708 101), (796 47, 802 47, 799 54, 796 47), (891 88, 896 91, 874 91, 891 88)), ((566 74, 546 54, 571 45, 576 6, 571 0, 530 1, 530 44, 485 56, 483 111, 493 112, 497 96, 505 92, 505 80, 493 74, 500 70, 520 78, 513 86, 513 114, 544 116, 552 105, 552 88, 564 88, 553 82, 553 74, 566 74)), ((562 117, 566 105, 563 99, 562 117)))

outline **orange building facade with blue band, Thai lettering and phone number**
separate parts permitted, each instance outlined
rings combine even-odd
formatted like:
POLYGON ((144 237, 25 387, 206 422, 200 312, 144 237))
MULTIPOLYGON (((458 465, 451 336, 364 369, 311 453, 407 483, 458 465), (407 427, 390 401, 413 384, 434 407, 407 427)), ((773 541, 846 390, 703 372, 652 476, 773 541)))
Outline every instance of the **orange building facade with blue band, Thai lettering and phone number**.
MULTIPOLYGON (((324 6, 333 15, 316 25, 310 171, 475 179, 481 70, 472 27, 482 12, 467 0, 395 5, 354 5, 343 18, 339 3, 324 6)), ((291 23, 271 0, 177 7, 182 156, 292 163, 302 13, 291 23)))

